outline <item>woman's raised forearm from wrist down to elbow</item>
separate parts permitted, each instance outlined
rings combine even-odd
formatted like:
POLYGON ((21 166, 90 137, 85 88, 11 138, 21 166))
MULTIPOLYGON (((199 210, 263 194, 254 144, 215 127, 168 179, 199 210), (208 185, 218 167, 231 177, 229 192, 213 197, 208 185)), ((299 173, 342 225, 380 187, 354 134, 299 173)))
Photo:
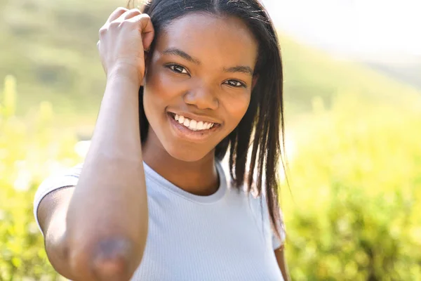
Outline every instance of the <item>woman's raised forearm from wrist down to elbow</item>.
POLYGON ((124 75, 110 76, 67 211, 71 267, 133 273, 145 248, 147 223, 138 84, 124 75))

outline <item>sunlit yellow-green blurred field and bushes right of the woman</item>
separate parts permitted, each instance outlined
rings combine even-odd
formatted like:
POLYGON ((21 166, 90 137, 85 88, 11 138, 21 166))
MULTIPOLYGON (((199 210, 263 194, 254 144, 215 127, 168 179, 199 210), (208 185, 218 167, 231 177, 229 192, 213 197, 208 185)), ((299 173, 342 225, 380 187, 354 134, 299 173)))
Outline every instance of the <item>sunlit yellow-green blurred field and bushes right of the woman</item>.
POLYGON ((296 126, 282 190, 293 280, 421 280, 421 107, 338 96, 296 126))

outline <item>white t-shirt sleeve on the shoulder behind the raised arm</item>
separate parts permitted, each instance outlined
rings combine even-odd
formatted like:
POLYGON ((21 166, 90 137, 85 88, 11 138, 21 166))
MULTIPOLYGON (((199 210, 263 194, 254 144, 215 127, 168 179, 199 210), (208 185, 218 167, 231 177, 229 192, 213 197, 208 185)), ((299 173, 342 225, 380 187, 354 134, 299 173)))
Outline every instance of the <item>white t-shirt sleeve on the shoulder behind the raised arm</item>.
POLYGON ((39 203, 41 203, 41 200, 46 197, 48 193, 54 190, 76 185, 79 180, 79 175, 81 174, 82 166, 83 164, 78 164, 65 172, 49 176, 41 183, 41 185, 39 185, 34 196, 34 216, 40 231, 41 226, 39 226, 37 216, 39 203))

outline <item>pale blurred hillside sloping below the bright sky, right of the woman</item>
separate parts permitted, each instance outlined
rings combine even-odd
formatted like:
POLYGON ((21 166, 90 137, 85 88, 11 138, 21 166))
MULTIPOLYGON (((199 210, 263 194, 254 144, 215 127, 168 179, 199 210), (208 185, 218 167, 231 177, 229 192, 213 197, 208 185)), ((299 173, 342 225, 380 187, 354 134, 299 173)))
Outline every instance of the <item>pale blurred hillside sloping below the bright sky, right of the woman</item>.
POLYGON ((420 100, 416 86, 368 67, 365 62, 345 60, 281 36, 285 70, 286 102, 295 112, 307 112, 314 96, 328 107, 342 93, 353 93, 375 103, 408 105, 420 100))

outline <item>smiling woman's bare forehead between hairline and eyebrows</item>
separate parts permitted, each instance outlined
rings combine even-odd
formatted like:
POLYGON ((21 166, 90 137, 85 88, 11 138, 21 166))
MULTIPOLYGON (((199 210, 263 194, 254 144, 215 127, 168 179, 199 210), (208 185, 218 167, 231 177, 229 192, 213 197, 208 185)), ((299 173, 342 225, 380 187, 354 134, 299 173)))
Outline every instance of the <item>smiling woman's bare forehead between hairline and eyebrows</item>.
POLYGON ((159 34, 156 51, 180 48, 203 63, 254 67, 258 43, 246 24, 232 16, 189 13, 159 34))

